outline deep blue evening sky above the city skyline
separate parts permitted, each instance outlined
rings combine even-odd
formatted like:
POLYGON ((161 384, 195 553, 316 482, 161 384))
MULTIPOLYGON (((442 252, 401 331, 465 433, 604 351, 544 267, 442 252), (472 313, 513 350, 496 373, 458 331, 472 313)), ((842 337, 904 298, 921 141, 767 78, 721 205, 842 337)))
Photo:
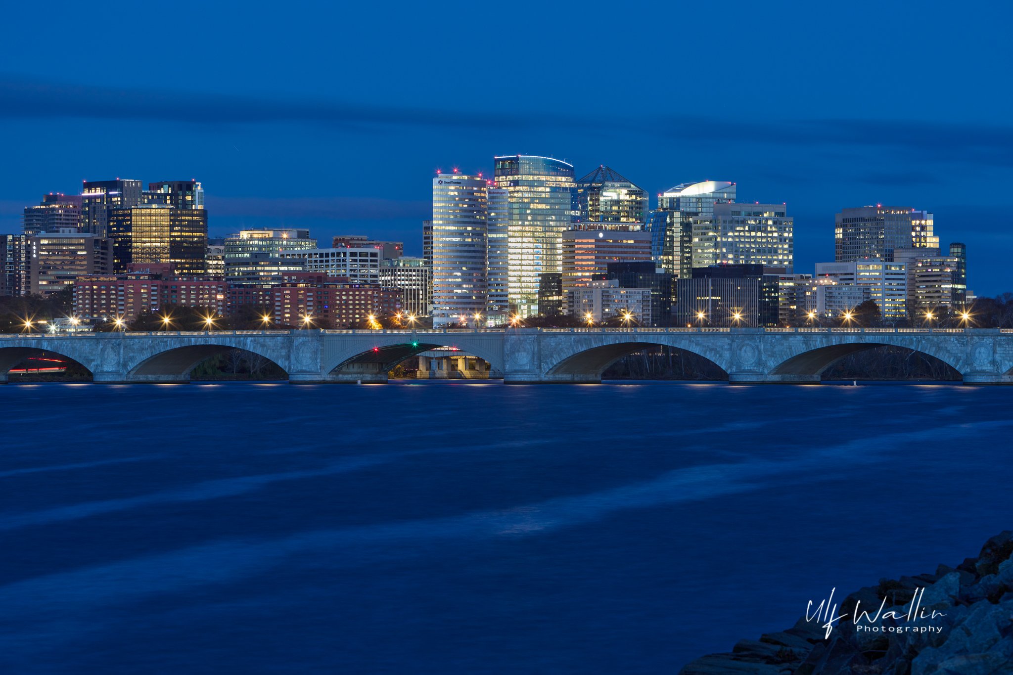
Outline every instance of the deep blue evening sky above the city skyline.
POLYGON ((796 271, 842 206, 928 208, 1013 290, 1013 5, 890 4, 8 3, 0 232, 82 179, 197 178, 213 236, 417 255, 436 169, 526 153, 785 201, 796 271))

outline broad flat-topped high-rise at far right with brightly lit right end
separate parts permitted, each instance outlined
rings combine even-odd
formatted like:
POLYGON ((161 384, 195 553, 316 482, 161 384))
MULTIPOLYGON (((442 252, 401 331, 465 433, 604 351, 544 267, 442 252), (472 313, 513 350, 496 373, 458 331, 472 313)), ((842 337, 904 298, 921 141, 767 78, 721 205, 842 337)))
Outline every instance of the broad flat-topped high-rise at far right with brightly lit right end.
MULTIPOLYGON (((894 262, 895 249, 938 249, 932 214, 908 206, 844 208, 835 218, 834 260, 894 262)), ((900 262, 900 261, 897 261, 900 262)))

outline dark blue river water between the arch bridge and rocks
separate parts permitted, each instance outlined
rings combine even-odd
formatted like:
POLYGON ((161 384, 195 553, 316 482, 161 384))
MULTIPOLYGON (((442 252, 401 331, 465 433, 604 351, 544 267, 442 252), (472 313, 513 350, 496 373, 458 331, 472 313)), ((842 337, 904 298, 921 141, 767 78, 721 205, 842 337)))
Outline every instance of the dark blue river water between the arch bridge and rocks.
POLYGON ((1011 404, 0 387, 0 672, 673 673, 1013 526, 1011 404))

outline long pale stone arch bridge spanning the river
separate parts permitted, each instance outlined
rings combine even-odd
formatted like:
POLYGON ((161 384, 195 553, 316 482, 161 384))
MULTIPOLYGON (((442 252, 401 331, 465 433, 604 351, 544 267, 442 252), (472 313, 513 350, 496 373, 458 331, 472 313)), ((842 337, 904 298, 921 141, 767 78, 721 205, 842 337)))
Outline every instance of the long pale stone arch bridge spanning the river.
POLYGON ((968 384, 1013 383, 1013 331, 1000 329, 474 329, 88 333, 0 336, 0 382, 26 357, 73 359, 99 383, 189 379, 201 361, 239 348, 294 383, 386 382, 411 356, 452 347, 485 359, 506 383, 597 383, 617 359, 653 346, 703 356, 730 383, 817 383, 848 354, 907 347, 952 366, 968 384))

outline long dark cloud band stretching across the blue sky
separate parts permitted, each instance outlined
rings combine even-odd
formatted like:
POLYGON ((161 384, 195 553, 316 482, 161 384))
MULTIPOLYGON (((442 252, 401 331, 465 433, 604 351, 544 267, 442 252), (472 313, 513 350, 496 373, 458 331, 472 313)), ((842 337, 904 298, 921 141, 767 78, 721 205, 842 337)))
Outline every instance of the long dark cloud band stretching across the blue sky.
POLYGON ((973 162, 1013 166, 1013 126, 912 119, 758 119, 692 114, 615 115, 595 111, 442 110, 365 105, 322 98, 255 96, 95 87, 0 75, 0 119, 85 118, 194 124, 311 123, 337 129, 391 126, 517 132, 638 132, 680 142, 894 150, 892 161, 973 162), (913 156, 911 156, 913 155, 913 156))

